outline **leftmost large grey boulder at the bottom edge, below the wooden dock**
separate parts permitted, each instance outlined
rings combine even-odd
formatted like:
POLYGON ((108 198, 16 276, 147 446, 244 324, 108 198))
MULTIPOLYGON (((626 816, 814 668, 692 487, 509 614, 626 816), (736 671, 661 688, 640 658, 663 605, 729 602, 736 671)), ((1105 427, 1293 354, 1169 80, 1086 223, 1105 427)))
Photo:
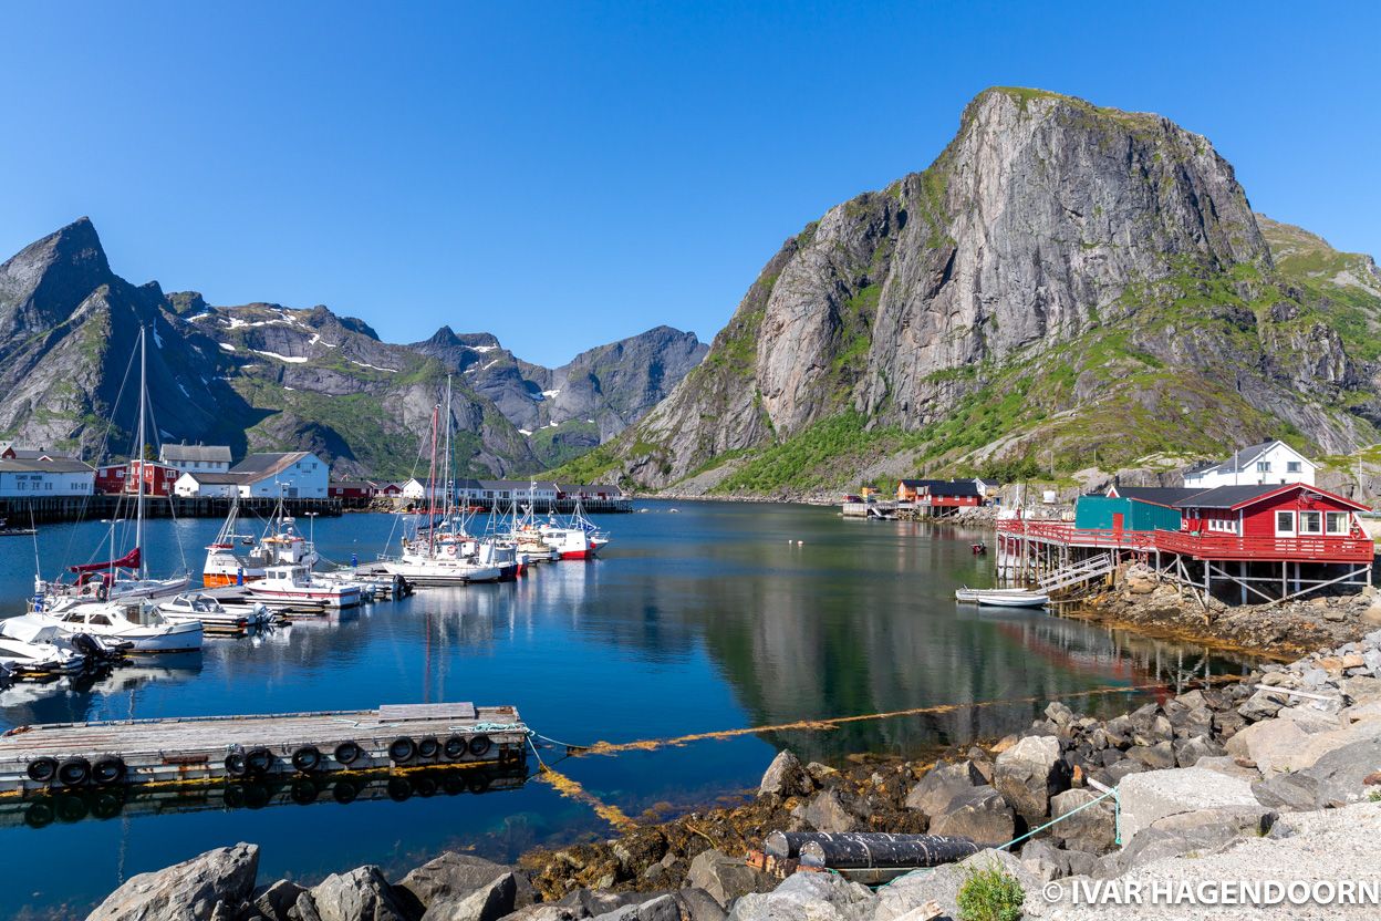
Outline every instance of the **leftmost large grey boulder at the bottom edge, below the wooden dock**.
POLYGON ((217 904, 238 909, 246 902, 257 874, 258 845, 217 848, 131 877, 87 921, 206 921, 217 904))

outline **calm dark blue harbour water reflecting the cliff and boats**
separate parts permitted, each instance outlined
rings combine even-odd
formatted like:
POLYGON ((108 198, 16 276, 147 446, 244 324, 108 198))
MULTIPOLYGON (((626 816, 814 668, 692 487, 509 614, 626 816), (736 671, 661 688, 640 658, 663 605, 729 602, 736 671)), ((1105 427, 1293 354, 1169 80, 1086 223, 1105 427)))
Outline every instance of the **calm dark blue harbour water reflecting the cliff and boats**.
MULTIPOLYGON (((122 668, 90 689, 18 686, 0 693, 0 726, 472 700, 516 704, 532 728, 565 741, 621 741, 1240 670, 1200 649, 1041 612, 957 606, 956 587, 990 581, 989 558, 969 552, 976 532, 791 505, 646 507, 603 519, 615 536, 603 559, 539 566, 515 584, 423 590, 265 638, 211 639, 199 655, 122 668)), ((316 540, 330 559, 369 559, 392 526, 389 515, 320 519, 316 540)), ((153 522, 155 569, 171 572, 185 554, 199 570, 217 527, 153 522)), ((43 529, 44 573, 102 558, 104 534, 97 523, 43 529)), ((29 539, 0 541, 0 613, 19 613, 33 566, 29 539)), ((742 794, 782 746, 827 762, 913 754, 1005 735, 1037 710, 1007 704, 568 758, 561 770, 635 816, 742 794)), ((262 845, 261 880, 311 882, 362 863, 402 871, 447 848, 512 859, 609 833, 587 806, 521 777, 496 779, 483 795, 423 787, 403 802, 348 790, 297 805, 294 793, 261 790, 247 804, 226 804, 220 790, 131 795, 61 804, 57 816, 0 805, 0 917, 81 915, 135 873, 235 841, 262 845), (348 805, 334 801, 349 794, 358 798, 348 805)))

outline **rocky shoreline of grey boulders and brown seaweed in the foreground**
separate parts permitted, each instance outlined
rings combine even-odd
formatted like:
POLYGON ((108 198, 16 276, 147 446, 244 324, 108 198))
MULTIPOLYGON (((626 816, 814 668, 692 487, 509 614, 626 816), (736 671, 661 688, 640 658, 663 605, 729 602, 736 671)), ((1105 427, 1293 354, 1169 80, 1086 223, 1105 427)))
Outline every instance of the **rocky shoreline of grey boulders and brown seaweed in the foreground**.
MULTIPOLYGON (((1139 577, 1130 573, 1128 585, 1139 577)), ((1156 591, 1123 588, 1134 598, 1156 591)), ((1371 605, 1364 595, 1304 608, 1334 635, 1362 630, 1371 605), (1337 610, 1341 619, 1323 617, 1337 610)), ((1381 806, 1369 802, 1381 786, 1373 784, 1381 784, 1381 630, 1110 719, 1051 701, 1027 730, 956 748, 934 765, 865 755, 831 768, 782 751, 744 805, 532 852, 516 866, 446 853, 398 881, 366 866, 312 888, 257 885, 257 848, 240 844, 135 877, 90 918, 892 921, 931 900, 953 915, 968 869, 994 862, 1022 884, 1027 917, 1091 918, 1102 910, 1048 914, 1041 886, 1192 871, 1210 857, 1237 859, 1235 849, 1248 844, 1253 866, 1290 878, 1298 869, 1284 857, 1272 864, 1272 855, 1293 853, 1311 834, 1381 830, 1381 806), (1099 784, 1117 787, 1120 826, 1110 799, 1095 802, 1099 784), (992 849, 1066 815, 1034 838, 992 849), (834 874, 782 881, 744 863, 773 830, 929 833, 986 849, 874 892, 834 874), (1269 846, 1284 837, 1293 844, 1269 846)))

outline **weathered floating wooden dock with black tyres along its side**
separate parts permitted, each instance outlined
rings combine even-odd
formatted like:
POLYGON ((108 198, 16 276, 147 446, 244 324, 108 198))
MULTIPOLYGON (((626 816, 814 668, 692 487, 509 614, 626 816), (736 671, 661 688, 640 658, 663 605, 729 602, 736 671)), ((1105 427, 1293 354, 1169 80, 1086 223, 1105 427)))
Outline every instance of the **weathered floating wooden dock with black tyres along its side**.
POLYGON ((514 707, 470 703, 246 717, 58 722, 0 736, 0 795, 333 772, 512 766, 528 728, 514 707))

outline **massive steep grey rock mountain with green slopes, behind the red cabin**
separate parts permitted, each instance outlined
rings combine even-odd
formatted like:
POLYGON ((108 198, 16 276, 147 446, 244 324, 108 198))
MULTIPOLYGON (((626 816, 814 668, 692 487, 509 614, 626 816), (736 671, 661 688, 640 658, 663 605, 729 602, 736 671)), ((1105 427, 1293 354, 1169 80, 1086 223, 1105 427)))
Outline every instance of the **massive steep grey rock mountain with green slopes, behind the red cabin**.
POLYGON ((786 240, 704 360, 563 474, 798 494, 1378 440, 1381 275, 1156 115, 992 88, 786 240))

